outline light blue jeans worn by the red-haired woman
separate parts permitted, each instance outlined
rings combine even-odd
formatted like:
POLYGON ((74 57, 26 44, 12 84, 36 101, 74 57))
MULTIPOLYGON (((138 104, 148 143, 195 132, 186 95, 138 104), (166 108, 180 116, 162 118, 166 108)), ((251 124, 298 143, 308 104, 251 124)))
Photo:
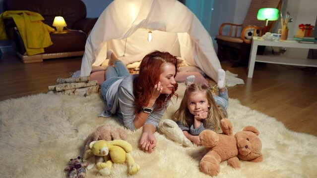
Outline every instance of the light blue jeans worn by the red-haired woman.
POLYGON ((127 66, 121 60, 115 62, 115 67, 108 66, 105 72, 106 80, 101 84, 101 94, 104 99, 106 99, 106 93, 113 83, 129 75, 130 73, 127 70, 127 66))

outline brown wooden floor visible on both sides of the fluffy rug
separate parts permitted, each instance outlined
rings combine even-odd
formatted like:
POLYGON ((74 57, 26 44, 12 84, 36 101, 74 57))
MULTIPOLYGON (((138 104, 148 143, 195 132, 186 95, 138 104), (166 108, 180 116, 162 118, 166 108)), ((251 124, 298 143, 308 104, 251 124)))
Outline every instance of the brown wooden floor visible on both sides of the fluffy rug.
MULTIPOLYGON (((57 78, 69 77, 80 65, 81 57, 23 64, 14 54, 4 53, 0 59, 0 101, 47 92, 57 78)), ((316 68, 256 65, 250 79, 246 67, 233 68, 227 62, 222 62, 222 67, 245 81, 245 85, 230 87, 229 97, 276 118, 292 131, 317 136, 316 68)))

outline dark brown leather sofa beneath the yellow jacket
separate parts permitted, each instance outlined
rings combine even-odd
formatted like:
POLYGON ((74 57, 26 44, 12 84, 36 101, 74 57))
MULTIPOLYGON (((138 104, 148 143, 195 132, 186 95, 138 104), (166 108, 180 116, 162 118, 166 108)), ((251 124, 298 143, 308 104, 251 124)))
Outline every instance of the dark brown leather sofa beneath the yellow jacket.
POLYGON ((55 16, 62 16, 67 29, 70 29, 64 28, 63 33, 50 33, 53 45, 44 48, 44 53, 28 56, 13 19, 5 19, 6 32, 14 41, 16 54, 24 63, 83 55, 87 36, 97 21, 97 18, 86 18, 86 6, 82 0, 3 0, 2 3, 3 11, 28 10, 40 13, 45 19, 43 22, 51 27, 55 16))

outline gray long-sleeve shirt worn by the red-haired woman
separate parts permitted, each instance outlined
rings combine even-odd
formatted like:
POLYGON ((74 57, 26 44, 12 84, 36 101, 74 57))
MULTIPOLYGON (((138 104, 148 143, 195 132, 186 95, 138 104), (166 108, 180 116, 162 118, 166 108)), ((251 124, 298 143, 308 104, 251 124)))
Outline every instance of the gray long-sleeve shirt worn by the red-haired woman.
MULTIPOLYGON (((124 78, 120 83, 114 83, 107 92, 106 102, 107 107, 112 108, 106 109, 100 116, 109 117, 112 114, 117 114, 120 119, 122 119, 124 125, 130 129, 135 130, 134 119, 135 119, 135 104, 134 104, 134 94, 133 94, 133 80, 136 75, 130 75, 124 78), (114 88, 113 88, 114 87, 114 88), (117 88, 117 89, 116 89, 117 88), (115 97, 113 97, 115 96, 115 97)), ((119 82, 119 81, 118 81, 119 82)), ((169 101, 166 103, 166 107, 169 105, 169 101)), ((155 111, 156 105, 153 106, 153 111, 148 116, 145 124, 151 124, 156 129, 158 128, 158 123, 160 122, 166 107, 161 111, 155 111)))

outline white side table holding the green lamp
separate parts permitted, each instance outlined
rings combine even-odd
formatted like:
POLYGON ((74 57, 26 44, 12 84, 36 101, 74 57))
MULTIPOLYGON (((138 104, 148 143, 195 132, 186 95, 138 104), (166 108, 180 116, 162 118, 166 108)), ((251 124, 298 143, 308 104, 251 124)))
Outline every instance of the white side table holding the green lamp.
POLYGON ((299 58, 290 58, 290 57, 283 57, 283 56, 276 56, 276 55, 275 56, 256 55, 258 45, 317 49, 317 44, 302 44, 292 39, 288 39, 285 41, 266 41, 259 37, 253 37, 251 52, 250 52, 250 59, 249 59, 249 67, 248 67, 249 78, 253 77, 255 62, 317 67, 317 59, 299 59, 299 58))

